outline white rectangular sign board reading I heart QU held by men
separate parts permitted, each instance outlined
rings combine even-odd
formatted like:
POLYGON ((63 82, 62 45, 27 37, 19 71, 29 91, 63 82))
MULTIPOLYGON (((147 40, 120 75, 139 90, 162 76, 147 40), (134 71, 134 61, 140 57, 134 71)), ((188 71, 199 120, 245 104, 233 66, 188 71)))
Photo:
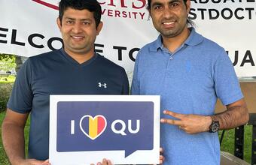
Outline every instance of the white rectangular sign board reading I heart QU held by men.
POLYGON ((50 95, 52 165, 159 163, 160 96, 50 95))

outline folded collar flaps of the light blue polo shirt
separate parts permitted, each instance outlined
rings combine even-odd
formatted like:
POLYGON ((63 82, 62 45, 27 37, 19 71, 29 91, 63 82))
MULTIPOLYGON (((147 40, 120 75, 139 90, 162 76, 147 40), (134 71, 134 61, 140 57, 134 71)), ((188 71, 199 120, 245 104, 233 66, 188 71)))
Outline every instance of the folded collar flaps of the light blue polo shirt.
MULTIPOLYGON (((187 37, 187 40, 184 41, 184 44, 189 46, 196 46, 203 42, 203 36, 198 34, 194 28, 190 28, 190 35, 187 37)), ((162 42, 162 36, 159 34, 157 40, 154 40, 153 46, 151 46, 151 51, 157 52, 158 49, 165 49, 162 42)))

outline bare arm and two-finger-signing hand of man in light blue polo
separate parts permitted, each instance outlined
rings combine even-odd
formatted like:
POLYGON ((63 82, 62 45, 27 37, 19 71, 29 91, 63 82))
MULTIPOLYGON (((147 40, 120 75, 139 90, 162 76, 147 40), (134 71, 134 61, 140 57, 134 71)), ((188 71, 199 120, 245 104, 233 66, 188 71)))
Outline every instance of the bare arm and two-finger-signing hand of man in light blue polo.
POLYGON ((171 115, 177 120, 161 118, 162 123, 177 125, 187 133, 200 133, 209 130, 212 120, 219 121, 220 129, 231 129, 248 122, 248 109, 243 99, 227 105, 227 110, 212 116, 184 115, 165 110, 166 115, 171 115))

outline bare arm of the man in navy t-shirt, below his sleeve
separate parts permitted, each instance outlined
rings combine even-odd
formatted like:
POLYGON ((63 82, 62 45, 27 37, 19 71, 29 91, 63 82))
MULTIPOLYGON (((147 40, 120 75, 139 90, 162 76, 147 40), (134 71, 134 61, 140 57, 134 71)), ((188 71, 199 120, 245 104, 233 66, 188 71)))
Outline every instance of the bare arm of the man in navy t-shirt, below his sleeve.
POLYGON ((2 142, 5 152, 12 165, 22 164, 49 164, 48 161, 40 161, 25 158, 24 127, 29 114, 15 113, 13 110, 6 111, 2 123, 2 142))

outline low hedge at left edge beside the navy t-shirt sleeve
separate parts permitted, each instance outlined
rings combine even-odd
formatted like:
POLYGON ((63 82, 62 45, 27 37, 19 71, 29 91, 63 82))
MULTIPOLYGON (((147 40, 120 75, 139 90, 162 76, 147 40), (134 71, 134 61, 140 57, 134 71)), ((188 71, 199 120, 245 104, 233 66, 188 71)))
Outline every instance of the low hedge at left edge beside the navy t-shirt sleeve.
POLYGON ((0 83, 0 113, 6 110, 6 104, 11 95, 14 83, 0 83))

